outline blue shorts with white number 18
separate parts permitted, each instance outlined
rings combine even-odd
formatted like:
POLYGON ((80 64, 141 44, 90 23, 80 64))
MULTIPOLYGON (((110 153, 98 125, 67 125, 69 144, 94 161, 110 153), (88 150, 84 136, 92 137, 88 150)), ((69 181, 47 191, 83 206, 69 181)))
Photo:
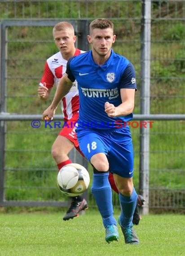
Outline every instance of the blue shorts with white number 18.
POLYGON ((109 170, 121 177, 133 176, 133 145, 130 132, 124 128, 110 131, 76 129, 79 148, 90 161, 97 153, 105 153, 109 161, 109 170))

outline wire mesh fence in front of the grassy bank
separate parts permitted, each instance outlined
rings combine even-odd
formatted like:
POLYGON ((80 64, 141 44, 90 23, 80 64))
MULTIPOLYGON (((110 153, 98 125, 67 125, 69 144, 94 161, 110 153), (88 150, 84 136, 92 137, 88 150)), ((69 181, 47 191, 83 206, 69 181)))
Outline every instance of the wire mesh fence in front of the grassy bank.
MULTIPOLYGON (((144 152, 150 159, 147 177, 150 193, 146 207, 156 212, 184 211, 185 1, 0 1, 1 24, 8 24, 5 38, 1 26, 1 117, 3 112, 41 115, 50 104, 52 96, 47 102, 40 102, 37 87, 46 59, 57 52, 52 37, 54 24, 64 20, 71 22, 78 35, 77 46, 87 50, 83 33, 87 23, 80 22, 100 17, 114 22, 117 37, 113 49, 135 66, 138 91, 134 114, 143 114, 141 102, 149 100, 148 113, 163 115, 161 120, 148 119, 154 123, 150 129, 145 129, 150 134, 150 148, 144 152), (147 2, 151 2, 151 47, 145 57, 146 63, 150 62, 150 77, 145 78, 150 79, 150 93, 143 97, 141 26, 142 8, 147 2), (181 118, 169 120, 168 115, 181 115, 181 118)), ((59 108, 57 114, 61 114, 59 108)), ((7 121, 2 118, 0 123, 0 204, 31 205, 32 202, 33 205, 34 201, 35 205, 65 206, 66 198, 61 197, 56 186, 57 168, 50 153, 60 129, 44 128, 43 123, 34 129, 31 120, 26 119, 7 121)), ((135 150, 134 185, 140 193, 143 192, 140 126, 133 124, 131 131, 135 150)), ((77 153, 71 154, 74 161, 79 160, 77 153)), ((91 167, 88 169, 92 175, 91 167)), ((87 197, 89 204, 95 206, 90 188, 87 197)), ((119 207, 117 194, 113 194, 113 200, 119 207)))

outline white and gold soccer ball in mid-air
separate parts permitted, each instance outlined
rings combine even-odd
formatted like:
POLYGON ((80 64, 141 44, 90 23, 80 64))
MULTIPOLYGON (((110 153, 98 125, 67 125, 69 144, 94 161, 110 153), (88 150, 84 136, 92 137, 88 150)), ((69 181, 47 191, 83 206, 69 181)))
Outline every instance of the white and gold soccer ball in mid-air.
POLYGON ((66 164, 57 175, 57 186, 67 196, 78 196, 84 193, 89 182, 88 171, 78 163, 66 164))

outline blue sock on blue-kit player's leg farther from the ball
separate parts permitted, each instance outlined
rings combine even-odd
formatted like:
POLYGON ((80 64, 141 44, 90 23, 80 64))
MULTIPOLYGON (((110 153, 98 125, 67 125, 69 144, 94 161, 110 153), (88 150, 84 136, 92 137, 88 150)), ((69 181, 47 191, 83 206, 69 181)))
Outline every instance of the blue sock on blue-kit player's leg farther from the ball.
POLYGON ((132 225, 133 214, 137 204, 137 193, 133 188, 130 196, 125 196, 119 193, 119 202, 121 206, 121 215, 119 216, 120 225, 128 228, 132 225))

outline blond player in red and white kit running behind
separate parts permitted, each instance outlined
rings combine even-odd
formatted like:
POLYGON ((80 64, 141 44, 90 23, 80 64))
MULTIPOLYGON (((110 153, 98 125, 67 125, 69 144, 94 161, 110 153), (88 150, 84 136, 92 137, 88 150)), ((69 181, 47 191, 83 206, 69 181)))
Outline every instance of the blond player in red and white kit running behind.
MULTIPOLYGON (((75 31, 73 26, 68 22, 59 22, 53 27, 53 38, 59 52, 49 57, 45 63, 44 75, 38 88, 38 94, 41 100, 46 100, 49 97, 53 84, 57 86, 59 80, 66 73, 66 64, 69 58, 84 53, 84 51, 75 48, 75 31)), ((68 154, 74 147, 82 154, 79 149, 75 128, 71 125, 75 124, 79 117, 79 92, 76 81, 70 92, 62 98, 61 103, 64 121, 68 125, 62 128, 52 146, 52 156, 57 163, 58 171, 64 165, 72 163, 68 154)), ((112 174, 110 174, 110 185, 118 193, 112 174)), ((88 204, 82 196, 72 197, 71 200, 70 208, 63 217, 64 221, 79 216, 80 211, 88 208, 88 204)), ((143 202, 144 199, 141 196, 140 198, 138 197, 135 220, 138 223, 140 220, 140 207, 143 202)))

